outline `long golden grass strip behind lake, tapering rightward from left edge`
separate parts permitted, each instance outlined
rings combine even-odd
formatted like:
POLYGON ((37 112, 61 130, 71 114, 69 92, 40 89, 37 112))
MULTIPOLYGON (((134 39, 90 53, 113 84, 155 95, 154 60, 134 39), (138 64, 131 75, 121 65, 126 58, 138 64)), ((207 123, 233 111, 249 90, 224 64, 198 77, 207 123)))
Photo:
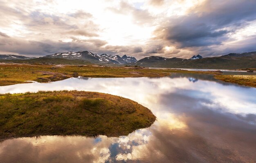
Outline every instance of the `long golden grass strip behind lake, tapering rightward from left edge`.
POLYGON ((77 65, 0 64, 0 86, 28 81, 59 81, 70 77, 164 77, 170 73, 213 73, 140 67, 107 67, 77 65))

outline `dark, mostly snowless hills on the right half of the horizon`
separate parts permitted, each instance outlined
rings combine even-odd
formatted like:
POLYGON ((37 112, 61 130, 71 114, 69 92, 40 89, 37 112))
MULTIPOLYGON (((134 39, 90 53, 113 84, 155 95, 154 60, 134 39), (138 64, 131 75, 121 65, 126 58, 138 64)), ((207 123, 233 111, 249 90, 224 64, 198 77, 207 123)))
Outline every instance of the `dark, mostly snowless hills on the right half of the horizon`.
MULTIPOLYGON (((193 56, 194 57, 194 56, 193 56)), ((192 58, 193 58, 192 57, 192 58)), ((195 56, 197 57, 197 56, 195 56)), ((197 59, 165 58, 158 56, 145 57, 132 65, 156 68, 205 68, 205 69, 238 69, 256 68, 256 52, 231 53, 220 57, 197 59)))

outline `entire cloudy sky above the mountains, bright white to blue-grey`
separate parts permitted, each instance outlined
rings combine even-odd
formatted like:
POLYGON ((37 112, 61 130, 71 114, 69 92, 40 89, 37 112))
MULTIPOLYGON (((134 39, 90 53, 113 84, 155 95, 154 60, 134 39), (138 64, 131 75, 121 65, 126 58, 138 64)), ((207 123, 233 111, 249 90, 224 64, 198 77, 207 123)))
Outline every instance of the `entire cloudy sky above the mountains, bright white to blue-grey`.
POLYGON ((0 0, 0 54, 256 51, 256 0, 0 0))

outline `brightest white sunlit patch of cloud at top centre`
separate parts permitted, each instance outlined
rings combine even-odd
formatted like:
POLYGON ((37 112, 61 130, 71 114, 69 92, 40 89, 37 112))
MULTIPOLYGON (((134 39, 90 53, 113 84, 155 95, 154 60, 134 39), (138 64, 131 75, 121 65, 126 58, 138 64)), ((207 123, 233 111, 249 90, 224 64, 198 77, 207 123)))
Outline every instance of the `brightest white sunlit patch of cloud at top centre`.
MULTIPOLYGON (((119 1, 54 1, 56 5, 40 6, 40 9, 49 14, 62 16, 77 11, 84 11, 93 15, 93 22, 100 27, 99 39, 107 40, 108 45, 132 45, 145 43, 151 37, 155 29, 154 26, 139 26, 132 20, 132 15, 128 12, 125 14, 114 13, 110 8, 118 8, 119 1)), ((83 20, 77 22, 83 24, 83 20)))

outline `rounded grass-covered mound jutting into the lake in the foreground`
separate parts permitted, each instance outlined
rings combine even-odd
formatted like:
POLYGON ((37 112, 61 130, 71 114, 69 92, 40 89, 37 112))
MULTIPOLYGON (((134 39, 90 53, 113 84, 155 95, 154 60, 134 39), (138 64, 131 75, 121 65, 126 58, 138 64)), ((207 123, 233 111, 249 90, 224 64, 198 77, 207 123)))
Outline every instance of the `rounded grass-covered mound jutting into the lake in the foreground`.
POLYGON ((149 127, 156 117, 119 96, 54 91, 0 95, 0 140, 40 135, 116 137, 149 127))

